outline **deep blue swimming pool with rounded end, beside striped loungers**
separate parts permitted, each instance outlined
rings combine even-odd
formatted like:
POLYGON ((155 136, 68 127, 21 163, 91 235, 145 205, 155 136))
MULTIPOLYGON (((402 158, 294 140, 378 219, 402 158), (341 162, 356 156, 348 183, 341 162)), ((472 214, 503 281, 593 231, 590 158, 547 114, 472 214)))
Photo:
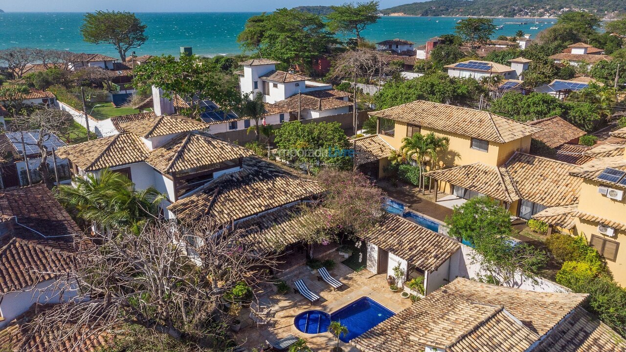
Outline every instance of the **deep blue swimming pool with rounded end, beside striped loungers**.
POLYGON ((361 297, 332 314, 322 311, 302 312, 295 317, 294 325, 303 333, 318 334, 328 331, 331 321, 341 321, 348 328, 348 333, 342 334, 339 339, 347 343, 394 315, 373 299, 361 297))

